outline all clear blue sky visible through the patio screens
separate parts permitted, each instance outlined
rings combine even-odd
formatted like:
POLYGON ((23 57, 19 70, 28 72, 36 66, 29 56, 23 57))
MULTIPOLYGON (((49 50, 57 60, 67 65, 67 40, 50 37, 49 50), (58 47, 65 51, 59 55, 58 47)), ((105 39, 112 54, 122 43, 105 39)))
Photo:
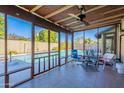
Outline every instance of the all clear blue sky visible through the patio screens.
MULTIPOLYGON (((31 28, 32 28, 32 24, 30 22, 27 22, 25 20, 16 18, 16 17, 12 17, 12 16, 7 16, 7 29, 8 29, 8 33, 12 34, 15 33, 18 36, 24 36, 26 38, 31 38, 31 28)), ((106 30, 110 28, 110 26, 108 27, 101 27, 100 31, 106 30)), ((35 26, 35 32, 39 32, 41 31, 43 28, 39 27, 39 26, 35 26)), ((97 32, 97 29, 90 29, 90 30, 85 30, 85 37, 87 38, 91 38, 93 40, 95 40, 95 34, 97 32)), ((65 33, 60 33, 61 35, 61 41, 63 42, 65 40, 65 33)), ((81 37, 83 36, 83 32, 76 32, 74 34, 74 38, 77 37, 81 37)), ((58 37, 58 36, 57 36, 58 37)))

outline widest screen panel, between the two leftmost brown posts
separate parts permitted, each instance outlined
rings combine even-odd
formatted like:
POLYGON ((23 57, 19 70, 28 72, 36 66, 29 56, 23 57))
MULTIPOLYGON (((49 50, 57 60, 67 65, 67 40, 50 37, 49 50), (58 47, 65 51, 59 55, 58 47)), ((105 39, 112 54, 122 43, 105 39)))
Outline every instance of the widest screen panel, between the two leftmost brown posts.
POLYGON ((32 23, 7 15, 7 56, 9 85, 27 80, 31 76, 32 23), (19 72, 18 70, 28 68, 19 72))

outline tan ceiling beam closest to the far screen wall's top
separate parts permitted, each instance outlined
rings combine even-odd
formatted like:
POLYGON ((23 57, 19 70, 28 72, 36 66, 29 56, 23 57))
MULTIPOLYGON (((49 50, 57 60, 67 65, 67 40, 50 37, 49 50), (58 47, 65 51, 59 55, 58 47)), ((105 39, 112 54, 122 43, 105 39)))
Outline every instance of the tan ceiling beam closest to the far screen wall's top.
POLYGON ((76 31, 82 31, 82 30, 86 30, 86 29, 93 29, 93 28, 97 28, 97 27, 101 27, 101 26, 112 25, 112 24, 115 24, 115 23, 119 23, 120 20, 121 20, 121 18, 117 18, 117 19, 109 20, 109 21, 106 21, 106 22, 103 22, 103 23, 92 24, 92 25, 89 25, 89 26, 74 29, 74 31, 76 32, 76 31))

